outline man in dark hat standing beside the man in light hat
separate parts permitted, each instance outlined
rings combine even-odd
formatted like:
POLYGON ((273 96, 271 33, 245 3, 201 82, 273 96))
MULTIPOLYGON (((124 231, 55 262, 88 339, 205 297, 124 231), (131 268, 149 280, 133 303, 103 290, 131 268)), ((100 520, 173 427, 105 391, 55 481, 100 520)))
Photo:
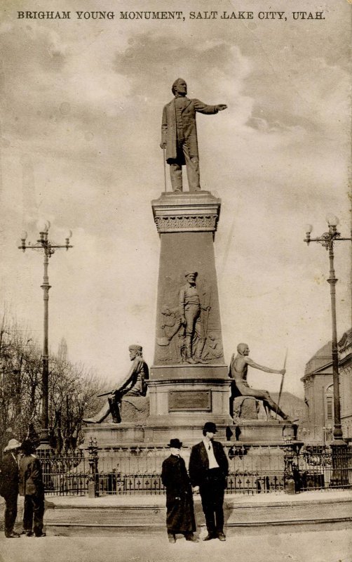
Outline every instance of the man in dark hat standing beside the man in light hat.
POLYGON ((41 463, 34 456, 32 441, 22 443, 23 456, 20 458, 20 495, 25 496, 23 532, 27 537, 45 537, 43 532, 44 484, 41 463))

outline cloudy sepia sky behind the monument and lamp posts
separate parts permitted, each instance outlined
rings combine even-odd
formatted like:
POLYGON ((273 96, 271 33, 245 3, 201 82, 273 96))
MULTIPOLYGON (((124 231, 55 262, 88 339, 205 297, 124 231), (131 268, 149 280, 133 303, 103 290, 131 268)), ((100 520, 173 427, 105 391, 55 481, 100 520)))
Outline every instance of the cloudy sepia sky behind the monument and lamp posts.
MULTIPOLYGON (((1 3, 1 303, 42 340, 40 254, 16 246, 38 221, 74 249, 50 259, 50 346, 119 379, 126 347, 153 362, 160 241, 151 200, 163 191, 160 124, 177 77, 189 97, 226 103, 198 116, 201 185, 221 197, 215 255, 226 361, 240 341, 281 368, 302 396, 304 365, 331 339, 328 256, 304 225, 339 216, 349 235, 350 105, 345 0, 105 1, 112 20, 78 20, 98 1, 1 3), (333 4, 333 6, 332 6, 333 4), (18 19, 17 11, 71 11, 18 19), (226 11, 253 19, 221 19, 226 11), (323 11, 324 20, 293 20, 323 11), (121 20, 121 11, 182 11, 181 20, 121 20), (216 10, 217 19, 189 19, 216 10), (284 18, 287 18, 285 20, 284 18)), ((132 16, 131 16, 132 17, 132 16)), ((170 190, 170 183, 168 183, 170 190)), ((336 244, 338 334, 351 326, 351 251, 336 244)), ((250 383, 278 390, 277 376, 250 383)))

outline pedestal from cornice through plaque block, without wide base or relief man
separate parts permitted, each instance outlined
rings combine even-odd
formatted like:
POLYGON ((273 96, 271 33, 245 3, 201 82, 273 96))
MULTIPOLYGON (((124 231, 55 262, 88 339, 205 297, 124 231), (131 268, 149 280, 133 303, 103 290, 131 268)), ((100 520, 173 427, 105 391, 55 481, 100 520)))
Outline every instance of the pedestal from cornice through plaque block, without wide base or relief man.
POLYGON ((220 200, 207 191, 165 192, 151 206, 161 251, 145 438, 160 442, 174 436, 193 442, 201 438, 205 421, 214 421, 219 436, 225 437, 232 419, 214 254, 220 200), (195 333, 192 341, 194 364, 187 362, 185 327, 180 323, 180 291, 187 285, 187 271, 197 272, 202 307, 203 334, 195 333))

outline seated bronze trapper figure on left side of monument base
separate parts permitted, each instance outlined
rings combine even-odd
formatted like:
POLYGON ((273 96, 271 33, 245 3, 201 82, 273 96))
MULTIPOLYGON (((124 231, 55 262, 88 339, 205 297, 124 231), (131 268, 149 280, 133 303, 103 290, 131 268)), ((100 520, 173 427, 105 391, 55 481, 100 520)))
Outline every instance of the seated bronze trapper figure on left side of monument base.
POLYGON ((149 369, 142 357, 142 346, 133 345, 128 348, 130 360, 133 362, 123 383, 116 390, 100 394, 108 396, 107 403, 94 417, 84 418, 86 424, 100 424, 111 413, 114 424, 121 424, 121 400, 124 396, 146 396, 149 369))

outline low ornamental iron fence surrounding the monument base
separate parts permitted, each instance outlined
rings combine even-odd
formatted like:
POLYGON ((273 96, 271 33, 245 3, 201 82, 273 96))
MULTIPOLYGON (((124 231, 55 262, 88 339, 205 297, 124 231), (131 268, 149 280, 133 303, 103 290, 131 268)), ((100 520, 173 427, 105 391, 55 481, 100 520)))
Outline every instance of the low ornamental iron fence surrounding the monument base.
MULTIPOLYGON (((229 476, 226 494, 254 495, 271 492, 301 492, 352 488, 352 451, 333 452, 330 447, 306 447, 299 452, 285 447, 226 446, 229 476)), ((184 447, 186 462, 190 450, 184 447)), ((124 447, 71 455, 40 455, 48 495, 163 495, 161 464, 168 447, 124 447)))

